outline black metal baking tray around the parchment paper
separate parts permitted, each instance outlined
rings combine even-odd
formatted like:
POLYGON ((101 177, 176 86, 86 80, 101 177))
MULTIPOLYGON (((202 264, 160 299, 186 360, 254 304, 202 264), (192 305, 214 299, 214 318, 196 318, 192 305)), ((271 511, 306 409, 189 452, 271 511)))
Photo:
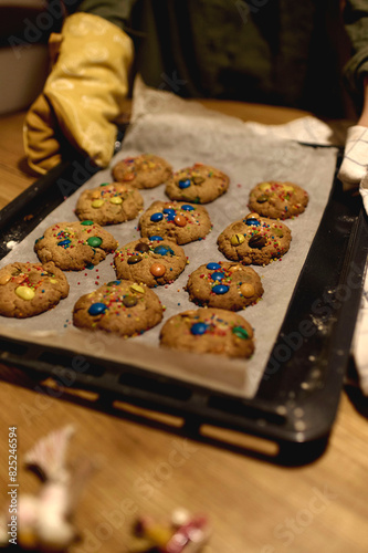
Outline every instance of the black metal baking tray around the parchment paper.
MULTIPOLYGON (((306 145, 306 147, 314 147, 306 145)), ((254 398, 244 399, 126 364, 76 352, 1 338, 0 359, 56 383, 94 390, 104 405, 120 400, 181 417, 190 434, 203 425, 231 429, 292 448, 308 459, 328 440, 336 416, 360 304, 368 223, 361 199, 343 191, 337 178, 301 271, 277 340, 254 398), (86 368, 87 367, 87 368, 86 368), (73 378, 70 377, 73 373, 73 378)), ((64 163, 29 187, 0 212, 2 259, 11 241, 25 238, 63 199, 96 171, 85 159, 64 163)))

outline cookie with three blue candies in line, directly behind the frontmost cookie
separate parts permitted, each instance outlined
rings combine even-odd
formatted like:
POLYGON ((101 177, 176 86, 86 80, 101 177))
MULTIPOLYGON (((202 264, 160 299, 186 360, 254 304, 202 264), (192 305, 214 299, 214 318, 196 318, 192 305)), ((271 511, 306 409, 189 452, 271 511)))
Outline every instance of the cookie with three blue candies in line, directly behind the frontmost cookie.
POLYGON ((251 267, 219 261, 193 271, 186 286, 190 301, 198 305, 239 311, 263 294, 261 279, 251 267))

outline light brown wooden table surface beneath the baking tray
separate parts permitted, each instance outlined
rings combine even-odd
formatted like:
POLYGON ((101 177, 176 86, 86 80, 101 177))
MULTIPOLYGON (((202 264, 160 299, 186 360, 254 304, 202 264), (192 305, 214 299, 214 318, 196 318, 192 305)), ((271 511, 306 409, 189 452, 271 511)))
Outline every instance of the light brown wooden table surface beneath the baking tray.
MULTIPOLYGON (((208 102, 244 121, 284 123, 299 112, 208 102)), ((34 181, 22 148, 23 114, 1 118, 0 207, 34 181)), ((126 551, 138 514, 166 520, 177 507, 207 513, 213 525, 211 553, 366 553, 368 403, 343 393, 326 451, 314 462, 285 467, 262 441, 243 437, 235 452, 189 439, 181 421, 128 405, 104 413, 92 393, 55 392, 15 368, 1 367, 1 502, 8 505, 8 427, 18 427, 19 492, 39 482, 22 466, 25 451, 50 430, 75 426, 69 459, 98 462, 77 512, 82 541, 71 551, 126 551), (53 397, 54 396, 54 397, 53 397)), ((48 386, 50 384, 50 386, 48 386)), ((230 438, 230 435, 228 435, 230 438)))

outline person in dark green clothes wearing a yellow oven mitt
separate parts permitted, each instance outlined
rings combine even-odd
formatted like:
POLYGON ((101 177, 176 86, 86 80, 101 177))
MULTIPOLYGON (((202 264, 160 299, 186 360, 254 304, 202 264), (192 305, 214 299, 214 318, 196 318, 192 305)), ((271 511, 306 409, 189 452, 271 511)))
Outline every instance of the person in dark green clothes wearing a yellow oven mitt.
MULTIPOLYGON (((52 1, 52 0, 51 0, 52 1)), ((55 1, 55 0, 54 0, 55 1)), ((283 105, 368 127, 367 0, 64 0, 52 69, 24 125, 29 165, 44 174, 65 144, 106 167, 133 77, 182 97, 283 105)), ((356 186, 367 170, 345 159, 356 186)))

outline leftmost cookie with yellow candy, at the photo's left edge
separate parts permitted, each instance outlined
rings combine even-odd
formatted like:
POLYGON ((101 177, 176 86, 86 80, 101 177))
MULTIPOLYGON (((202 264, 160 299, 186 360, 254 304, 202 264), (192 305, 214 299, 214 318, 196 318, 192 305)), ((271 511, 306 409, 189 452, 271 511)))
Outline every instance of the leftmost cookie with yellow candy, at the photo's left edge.
POLYGON ((69 294, 54 263, 10 263, 0 269, 0 315, 27 319, 57 305, 69 294))

